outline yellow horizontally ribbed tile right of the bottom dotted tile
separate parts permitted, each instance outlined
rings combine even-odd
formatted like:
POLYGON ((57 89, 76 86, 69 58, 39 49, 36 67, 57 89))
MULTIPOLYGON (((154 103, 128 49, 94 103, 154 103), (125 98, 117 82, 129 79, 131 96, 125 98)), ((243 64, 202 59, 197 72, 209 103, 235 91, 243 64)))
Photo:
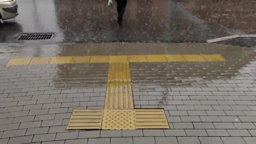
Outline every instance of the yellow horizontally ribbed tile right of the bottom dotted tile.
POLYGON ((163 109, 134 109, 136 129, 170 129, 163 109))

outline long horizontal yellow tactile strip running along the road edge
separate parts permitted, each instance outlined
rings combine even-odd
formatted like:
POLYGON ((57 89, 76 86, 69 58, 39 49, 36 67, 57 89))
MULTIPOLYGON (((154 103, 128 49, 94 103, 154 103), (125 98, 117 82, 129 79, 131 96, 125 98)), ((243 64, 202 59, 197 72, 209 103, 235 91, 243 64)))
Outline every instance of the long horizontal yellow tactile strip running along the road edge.
POLYGON ((28 64, 79 64, 79 63, 119 63, 119 62, 204 62, 226 61, 220 54, 206 55, 124 55, 124 56, 57 56, 41 58, 11 59, 6 66, 28 64), (31 60, 32 59, 32 60, 31 60))

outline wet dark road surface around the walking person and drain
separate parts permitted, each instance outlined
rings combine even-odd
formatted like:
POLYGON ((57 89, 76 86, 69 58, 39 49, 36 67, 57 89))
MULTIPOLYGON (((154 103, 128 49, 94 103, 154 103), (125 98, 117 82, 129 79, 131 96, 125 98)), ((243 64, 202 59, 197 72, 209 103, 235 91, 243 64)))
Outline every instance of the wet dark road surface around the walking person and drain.
POLYGON ((130 0, 123 27, 104 0, 17 0, 19 16, 0 23, 0 42, 205 41, 255 33, 254 1, 130 0), (236 5, 234 7, 234 5, 236 5), (251 6, 250 6, 251 5, 251 6), (18 41, 20 33, 54 32, 47 41, 18 41))

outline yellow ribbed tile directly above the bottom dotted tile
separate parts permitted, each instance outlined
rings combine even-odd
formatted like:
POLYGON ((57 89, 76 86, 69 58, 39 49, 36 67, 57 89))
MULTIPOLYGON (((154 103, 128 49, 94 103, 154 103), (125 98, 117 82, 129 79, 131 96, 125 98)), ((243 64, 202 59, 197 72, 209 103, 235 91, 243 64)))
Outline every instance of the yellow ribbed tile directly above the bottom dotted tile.
POLYGON ((104 109, 133 109, 132 93, 106 93, 104 109))

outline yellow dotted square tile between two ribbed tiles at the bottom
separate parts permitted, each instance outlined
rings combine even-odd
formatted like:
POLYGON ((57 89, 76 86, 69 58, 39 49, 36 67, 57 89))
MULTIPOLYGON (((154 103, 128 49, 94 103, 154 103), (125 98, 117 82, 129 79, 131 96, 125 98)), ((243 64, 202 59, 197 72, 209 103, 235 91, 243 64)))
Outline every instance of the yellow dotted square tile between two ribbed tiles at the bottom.
POLYGON ((134 130, 134 109, 104 109, 101 129, 134 130))

